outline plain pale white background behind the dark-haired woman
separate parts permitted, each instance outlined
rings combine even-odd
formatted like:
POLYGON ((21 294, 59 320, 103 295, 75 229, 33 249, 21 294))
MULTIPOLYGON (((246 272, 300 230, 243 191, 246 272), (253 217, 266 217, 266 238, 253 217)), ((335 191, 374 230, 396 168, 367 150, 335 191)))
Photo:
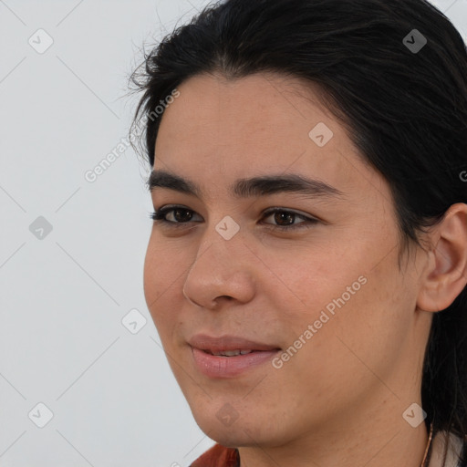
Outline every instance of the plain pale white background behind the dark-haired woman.
MULTIPOLYGON (((128 135, 143 44, 207 3, 0 0, 0 467, 185 467, 213 444, 144 300, 149 167, 130 148, 85 179, 128 135)), ((433 3, 466 38, 467 0, 433 3)))

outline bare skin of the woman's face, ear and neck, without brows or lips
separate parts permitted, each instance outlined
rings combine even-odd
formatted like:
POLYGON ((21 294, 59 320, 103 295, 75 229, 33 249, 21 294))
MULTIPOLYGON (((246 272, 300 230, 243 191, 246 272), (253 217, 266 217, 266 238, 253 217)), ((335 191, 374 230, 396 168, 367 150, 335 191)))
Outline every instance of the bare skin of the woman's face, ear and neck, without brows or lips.
POLYGON ((421 406, 433 312, 467 282, 467 205, 452 205, 427 235, 430 248, 413 246, 399 267, 389 185, 319 103, 317 88, 257 74, 200 75, 178 89, 161 120, 154 170, 196 182, 202 198, 151 193, 155 208, 181 204, 194 217, 182 229, 152 227, 144 293, 194 419, 214 441, 239 448, 242 467, 419 467, 428 433, 402 414, 421 406), (334 133, 322 148, 308 137, 318 122, 334 133), (345 197, 239 200, 227 191, 239 178, 284 172, 327 182, 345 197), (320 222, 268 229, 281 222, 262 214, 275 206, 320 222), (215 230, 226 215, 240 226, 228 241, 215 230), (367 283, 282 368, 266 363, 210 379, 193 365, 186 340, 200 332, 289 348, 361 275, 367 283), (216 417, 226 403, 238 414, 230 426, 216 417))

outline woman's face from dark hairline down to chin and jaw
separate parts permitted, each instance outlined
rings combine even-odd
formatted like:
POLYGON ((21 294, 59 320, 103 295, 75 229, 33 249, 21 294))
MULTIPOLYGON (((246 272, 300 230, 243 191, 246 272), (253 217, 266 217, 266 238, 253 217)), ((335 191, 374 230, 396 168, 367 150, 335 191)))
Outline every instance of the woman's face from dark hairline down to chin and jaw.
POLYGON ((368 417, 404 423, 420 403, 431 314, 416 306, 419 251, 398 266, 388 183, 298 80, 204 75, 178 90, 154 171, 195 194, 154 183, 154 208, 178 209, 152 227, 144 292, 202 431, 227 446, 274 446, 368 417), (242 190, 291 176, 321 184, 242 190), (256 351, 204 351, 233 348, 256 351))

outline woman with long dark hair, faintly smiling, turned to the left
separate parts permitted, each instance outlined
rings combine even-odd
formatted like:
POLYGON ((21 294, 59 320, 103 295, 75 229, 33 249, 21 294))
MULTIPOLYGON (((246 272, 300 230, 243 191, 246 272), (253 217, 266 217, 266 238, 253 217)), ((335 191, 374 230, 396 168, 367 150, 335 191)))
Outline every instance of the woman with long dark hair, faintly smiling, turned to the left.
POLYGON ((193 467, 466 466, 467 54, 423 0, 228 0, 145 58, 144 292, 193 467))

